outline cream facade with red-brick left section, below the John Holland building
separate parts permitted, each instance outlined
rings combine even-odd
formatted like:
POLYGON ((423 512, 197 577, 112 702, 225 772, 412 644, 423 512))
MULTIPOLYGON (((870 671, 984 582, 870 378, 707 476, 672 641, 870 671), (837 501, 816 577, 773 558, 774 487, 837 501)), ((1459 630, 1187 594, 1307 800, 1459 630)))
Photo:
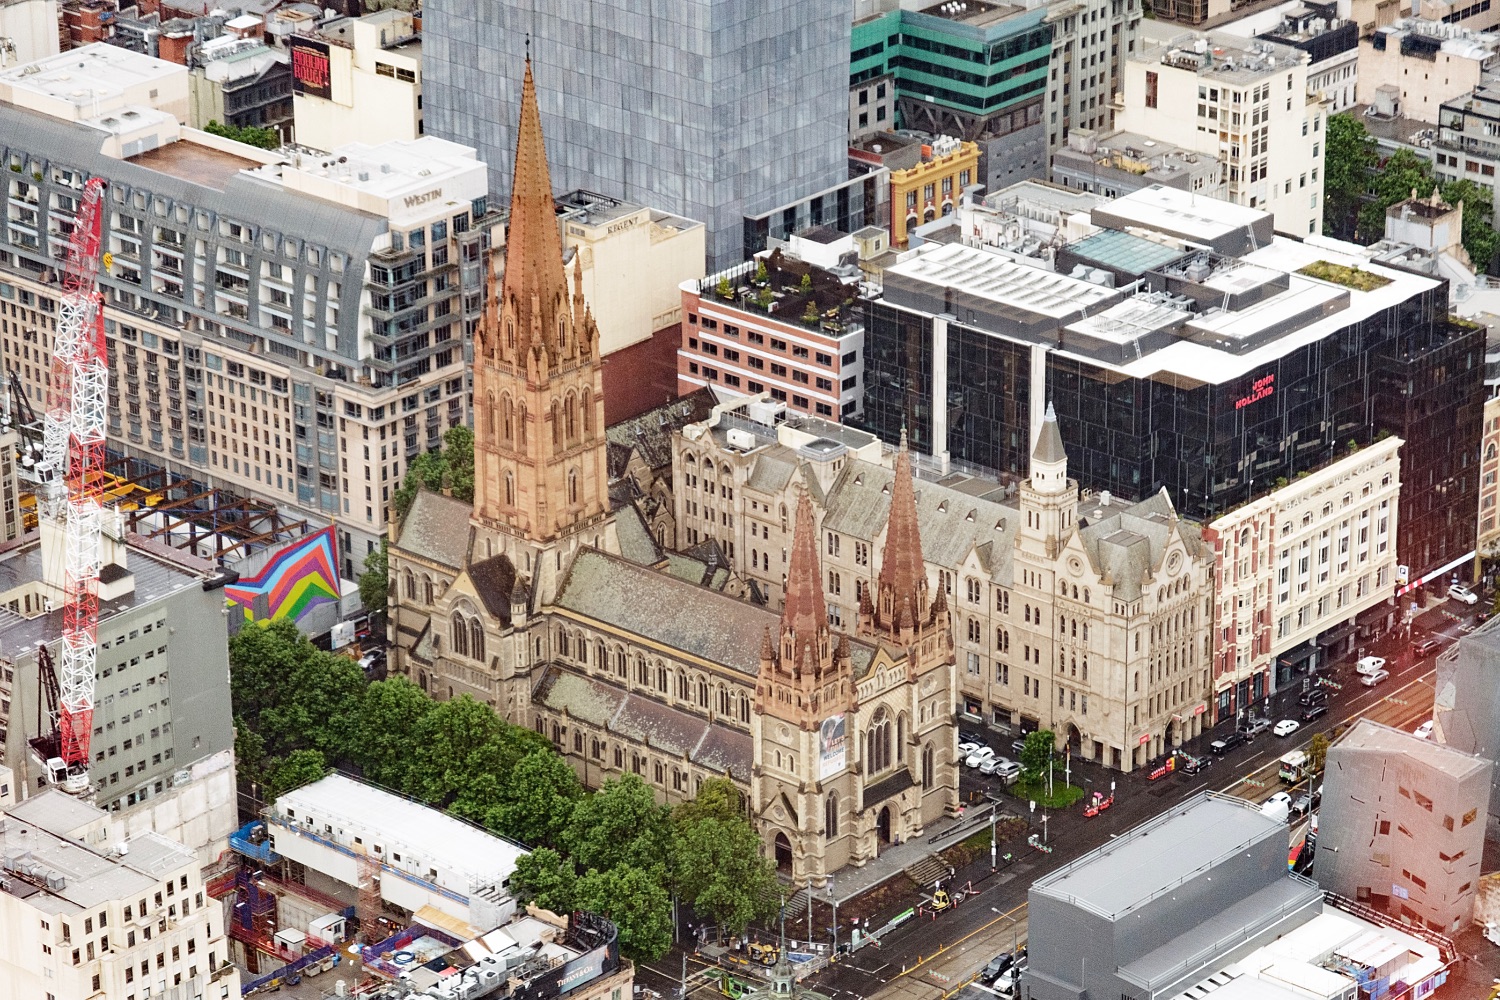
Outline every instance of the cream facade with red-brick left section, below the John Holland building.
POLYGON ((1396 586, 1401 438, 1384 438, 1214 520, 1215 721, 1354 643, 1396 586))

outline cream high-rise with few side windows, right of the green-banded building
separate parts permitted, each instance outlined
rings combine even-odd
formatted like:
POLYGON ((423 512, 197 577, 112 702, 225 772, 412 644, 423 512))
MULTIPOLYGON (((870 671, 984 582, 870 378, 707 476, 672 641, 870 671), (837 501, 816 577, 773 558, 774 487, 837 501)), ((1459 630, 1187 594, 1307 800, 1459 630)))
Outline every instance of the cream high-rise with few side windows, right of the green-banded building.
POLYGON ((1308 54, 1221 31, 1137 48, 1114 126, 1220 157, 1226 201, 1272 213, 1276 232, 1317 232, 1328 111, 1308 93, 1308 54))

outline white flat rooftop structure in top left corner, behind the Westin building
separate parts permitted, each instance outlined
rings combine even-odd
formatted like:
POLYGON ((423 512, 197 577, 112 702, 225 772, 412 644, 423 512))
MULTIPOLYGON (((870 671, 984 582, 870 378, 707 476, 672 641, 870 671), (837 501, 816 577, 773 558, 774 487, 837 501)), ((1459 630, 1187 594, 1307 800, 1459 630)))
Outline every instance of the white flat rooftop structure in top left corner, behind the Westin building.
POLYGON ((0 100, 70 121, 124 105, 160 108, 186 121, 188 67, 94 42, 0 72, 0 100))

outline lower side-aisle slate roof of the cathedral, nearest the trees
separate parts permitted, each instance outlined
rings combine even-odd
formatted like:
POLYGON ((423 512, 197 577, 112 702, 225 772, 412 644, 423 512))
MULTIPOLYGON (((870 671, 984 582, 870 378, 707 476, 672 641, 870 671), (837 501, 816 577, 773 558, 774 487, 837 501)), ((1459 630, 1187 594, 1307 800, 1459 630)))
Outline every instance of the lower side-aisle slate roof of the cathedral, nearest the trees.
POLYGON ((606 681, 549 666, 531 699, 555 712, 566 711, 585 724, 648 744, 674 757, 732 774, 741 781, 750 778, 750 733, 622 691, 606 681))

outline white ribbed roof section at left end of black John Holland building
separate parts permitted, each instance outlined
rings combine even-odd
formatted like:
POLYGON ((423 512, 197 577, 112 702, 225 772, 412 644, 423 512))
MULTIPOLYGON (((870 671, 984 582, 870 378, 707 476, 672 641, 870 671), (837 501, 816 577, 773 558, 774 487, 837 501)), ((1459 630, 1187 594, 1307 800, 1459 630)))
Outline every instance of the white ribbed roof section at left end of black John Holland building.
POLYGON ((933 244, 926 244, 914 258, 885 268, 885 273, 936 282, 1054 319, 1078 315, 1118 294, 1113 288, 1020 264, 990 250, 960 243, 936 244, 932 250, 927 246, 933 244))

